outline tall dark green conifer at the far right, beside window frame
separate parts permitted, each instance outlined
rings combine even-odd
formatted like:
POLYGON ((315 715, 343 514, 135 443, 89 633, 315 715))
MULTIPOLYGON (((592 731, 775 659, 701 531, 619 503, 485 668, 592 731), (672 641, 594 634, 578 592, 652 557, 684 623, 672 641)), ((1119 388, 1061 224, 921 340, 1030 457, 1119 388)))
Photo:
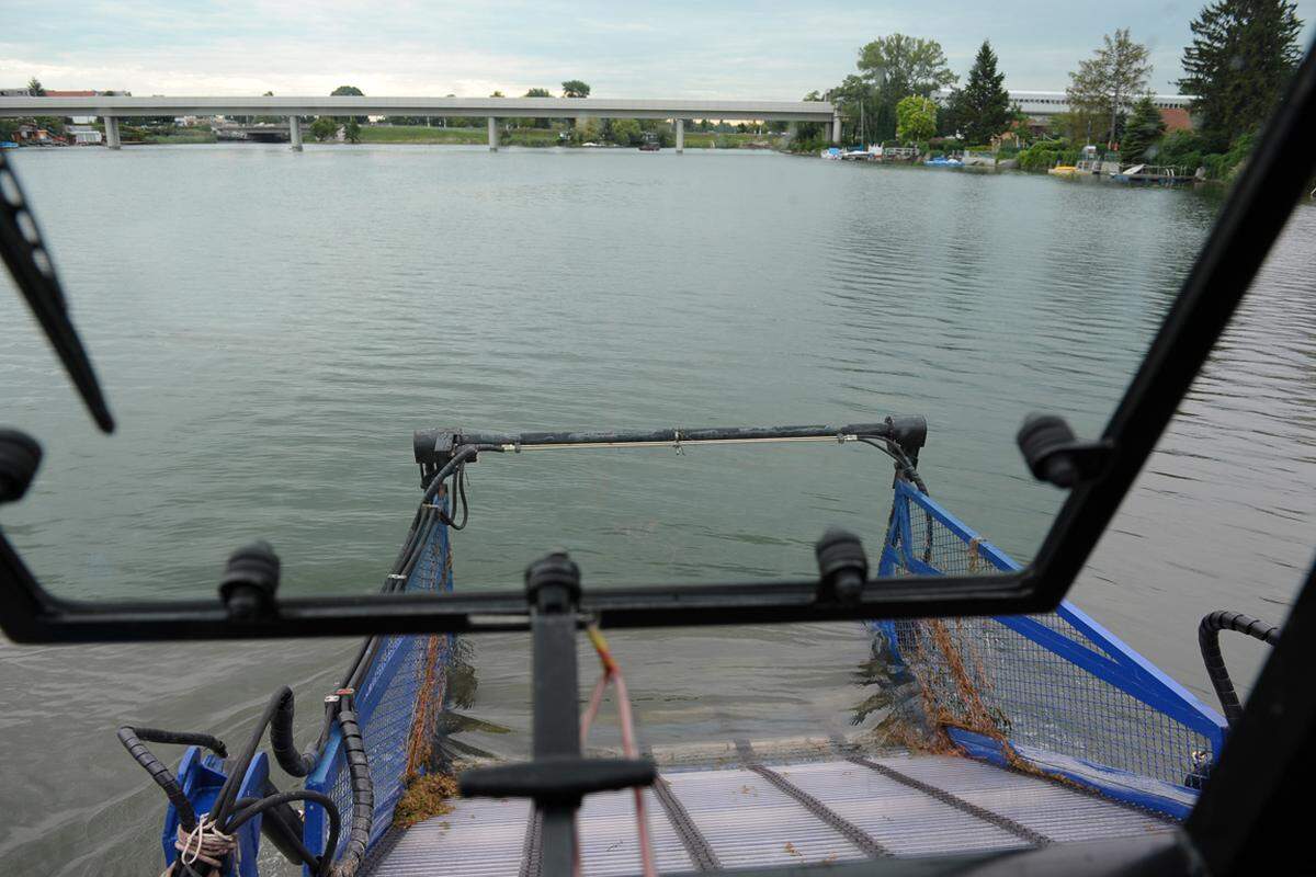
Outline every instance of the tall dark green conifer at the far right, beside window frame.
POLYGON ((1303 22, 1284 0, 1220 0, 1190 25, 1179 89, 1194 96, 1200 130, 1216 150, 1255 129, 1298 67, 1303 22))

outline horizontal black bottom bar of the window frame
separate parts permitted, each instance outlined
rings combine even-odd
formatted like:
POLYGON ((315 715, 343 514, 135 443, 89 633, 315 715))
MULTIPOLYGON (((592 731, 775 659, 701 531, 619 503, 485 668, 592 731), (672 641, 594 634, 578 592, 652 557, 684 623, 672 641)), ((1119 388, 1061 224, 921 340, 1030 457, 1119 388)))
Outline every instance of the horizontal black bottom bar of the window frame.
MULTIPOLYGON (((608 628, 1003 615, 1032 605, 1026 581, 1026 573, 878 579, 866 582, 853 602, 819 600, 817 582, 809 580, 600 588, 583 594, 580 607, 608 628)), ((64 601, 36 589, 21 589, 18 594, 33 611, 0 613, 0 626, 21 643, 487 634, 530 628, 524 597, 511 590, 287 598, 279 601, 272 617, 245 621, 232 618, 218 600, 64 601)), ((7 597, 12 600, 12 594, 7 597)))

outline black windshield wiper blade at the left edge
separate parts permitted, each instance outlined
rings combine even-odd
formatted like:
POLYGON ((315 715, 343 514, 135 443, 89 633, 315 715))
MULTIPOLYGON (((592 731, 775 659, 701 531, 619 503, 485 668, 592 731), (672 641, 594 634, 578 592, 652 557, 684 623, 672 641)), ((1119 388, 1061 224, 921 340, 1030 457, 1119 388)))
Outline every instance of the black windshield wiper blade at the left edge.
POLYGON ((13 275, 18 292, 28 300, 28 306, 64 364, 92 419, 103 431, 113 433, 114 417, 105 404, 87 348, 68 318, 55 263, 46 252, 37 220, 28 210, 22 187, 18 185, 18 178, 9 167, 4 150, 0 150, 0 254, 4 254, 4 263, 13 275))

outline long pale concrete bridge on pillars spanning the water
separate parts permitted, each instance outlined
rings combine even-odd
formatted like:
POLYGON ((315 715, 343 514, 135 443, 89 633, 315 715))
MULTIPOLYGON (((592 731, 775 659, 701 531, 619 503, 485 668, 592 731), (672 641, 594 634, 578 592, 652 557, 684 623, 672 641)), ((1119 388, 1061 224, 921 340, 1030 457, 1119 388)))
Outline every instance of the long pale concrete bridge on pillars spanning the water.
POLYGON ((283 116, 288 141, 301 149, 301 116, 463 116, 488 120, 490 149, 497 149, 499 118, 670 118, 676 151, 686 145, 686 120, 821 122, 832 142, 841 117, 826 101, 625 100, 609 97, 0 97, 0 116, 100 116, 105 143, 120 147, 118 120, 142 116, 283 116))

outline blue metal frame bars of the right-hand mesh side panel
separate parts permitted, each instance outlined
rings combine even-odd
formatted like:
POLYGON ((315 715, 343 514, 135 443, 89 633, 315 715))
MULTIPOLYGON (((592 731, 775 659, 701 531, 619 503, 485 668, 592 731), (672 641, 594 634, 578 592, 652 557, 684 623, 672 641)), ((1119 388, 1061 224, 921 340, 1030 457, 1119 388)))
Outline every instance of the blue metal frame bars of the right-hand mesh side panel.
MULTIPOLYGON (((913 527, 909 517, 913 506, 917 506, 919 513, 930 514, 937 523, 963 540, 966 548, 976 548, 978 556, 996 569, 1001 572, 1021 569, 1009 555, 982 539, 982 536, 934 500, 907 481, 898 481, 887 538, 878 564, 879 576, 891 577, 899 569, 907 569, 920 576, 944 575, 941 569, 924 561, 916 554, 919 546, 913 543, 913 527)), ((1145 706, 1200 734, 1211 743, 1212 751, 1219 755, 1224 746, 1228 727, 1220 713, 1202 702, 1196 696, 1170 678, 1152 664, 1152 661, 1138 655, 1070 601, 1062 601, 1055 614, 1087 639, 1092 647, 1086 647, 1082 643, 1057 634, 1046 625, 1028 615, 998 615, 994 619, 1020 636, 1028 638, 1046 651, 1100 678, 1112 688, 1124 692, 1145 706)), ((892 657, 898 661, 901 660, 895 622, 874 622, 874 627, 886 635, 892 657)), ((1004 761, 999 742, 958 728, 950 730, 950 734, 970 755, 996 763, 1004 761)), ((1026 749, 1026 747, 1023 748, 1026 749)), ((1165 795, 1155 792, 1130 789, 1129 784, 1121 778, 1129 776, 1126 772, 1076 760, 1074 764, 1076 765, 1075 769, 1057 769, 1054 764, 1048 763, 1046 769, 1082 785, 1096 788, 1112 798, 1150 807, 1178 818, 1186 817, 1190 809, 1188 805, 1183 803, 1183 797, 1186 794, 1195 795, 1186 786, 1174 786, 1174 793, 1165 795)))

